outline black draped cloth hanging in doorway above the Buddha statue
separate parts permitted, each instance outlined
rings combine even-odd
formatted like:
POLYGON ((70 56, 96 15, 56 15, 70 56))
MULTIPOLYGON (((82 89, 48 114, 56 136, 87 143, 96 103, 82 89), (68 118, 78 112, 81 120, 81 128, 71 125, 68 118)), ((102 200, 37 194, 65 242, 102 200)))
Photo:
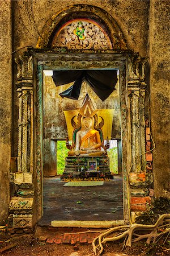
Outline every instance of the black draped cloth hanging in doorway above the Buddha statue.
POLYGON ((117 70, 53 71, 52 77, 56 86, 74 82, 67 90, 59 93, 61 97, 78 100, 82 82, 85 80, 97 96, 104 101, 115 90, 117 70))

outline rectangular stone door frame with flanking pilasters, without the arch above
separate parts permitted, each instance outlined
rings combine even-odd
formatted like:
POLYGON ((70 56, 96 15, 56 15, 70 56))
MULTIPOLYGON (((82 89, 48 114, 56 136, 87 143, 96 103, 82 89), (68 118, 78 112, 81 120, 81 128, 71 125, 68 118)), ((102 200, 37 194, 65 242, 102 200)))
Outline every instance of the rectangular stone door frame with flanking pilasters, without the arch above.
MULTIPOLYGON (((44 69, 57 70, 68 67, 70 69, 102 67, 120 70, 124 221, 128 221, 128 170, 130 170, 131 159, 134 159, 135 155, 139 155, 140 152, 145 152, 145 125, 143 125, 143 121, 145 122, 145 75, 141 72, 145 70, 146 60, 132 53, 115 53, 114 51, 108 53, 79 52, 75 55, 69 51, 45 53, 35 49, 29 51, 29 55, 27 54, 22 61, 19 61, 19 120, 24 125, 19 126, 18 172, 11 177, 11 184, 15 185, 18 192, 15 194, 17 196, 11 198, 9 222, 13 223, 13 226, 15 223, 19 226, 20 222, 24 224, 23 226, 34 226, 42 217, 43 71, 44 69), (25 69, 23 69, 23 63, 25 69), (135 115, 131 112, 131 107, 137 110, 135 115), (29 126, 28 118, 31 121, 29 126), (139 122, 138 126, 136 126, 137 122, 139 122), (132 130, 134 139, 131 137, 132 130), (23 213, 25 213, 24 217, 23 213)), ((145 169, 145 162, 144 155, 144 158, 133 165, 133 172, 141 172, 142 168, 145 169)))

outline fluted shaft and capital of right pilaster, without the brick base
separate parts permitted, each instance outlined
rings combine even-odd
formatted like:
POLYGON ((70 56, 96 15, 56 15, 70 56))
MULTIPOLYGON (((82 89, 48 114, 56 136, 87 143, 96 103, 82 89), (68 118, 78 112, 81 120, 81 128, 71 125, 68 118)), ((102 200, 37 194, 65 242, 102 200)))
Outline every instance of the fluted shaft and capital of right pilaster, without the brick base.
POLYGON ((145 64, 147 59, 134 56, 128 65, 128 125, 131 142, 131 172, 146 170, 145 160, 145 64), (143 155, 142 155, 143 154, 143 155), (142 155, 142 156, 141 156, 142 155), (140 157, 141 156, 141 157, 140 157))

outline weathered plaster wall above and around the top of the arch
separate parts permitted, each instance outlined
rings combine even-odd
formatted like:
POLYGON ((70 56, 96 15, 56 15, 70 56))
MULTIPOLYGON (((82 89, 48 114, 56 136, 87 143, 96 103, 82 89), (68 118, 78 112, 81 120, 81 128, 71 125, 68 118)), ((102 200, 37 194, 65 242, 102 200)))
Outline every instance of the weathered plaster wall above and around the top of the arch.
POLYGON ((107 11, 121 27, 129 47, 141 56, 147 55, 149 1, 142 0, 15 1, 14 47, 35 47, 46 20, 59 10, 78 4, 94 5, 107 11))

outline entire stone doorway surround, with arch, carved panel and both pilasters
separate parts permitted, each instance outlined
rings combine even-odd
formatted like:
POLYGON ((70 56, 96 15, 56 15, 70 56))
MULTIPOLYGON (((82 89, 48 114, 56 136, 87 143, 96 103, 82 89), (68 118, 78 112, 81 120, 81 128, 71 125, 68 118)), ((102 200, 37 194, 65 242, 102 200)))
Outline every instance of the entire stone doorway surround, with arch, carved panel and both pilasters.
MULTIPOLYGON (((53 19, 48 20, 42 32, 44 38, 39 38, 37 48, 28 49, 22 56, 16 56, 15 59, 18 69, 16 75, 19 109, 18 169, 17 172, 11 173, 9 226, 12 225, 14 228, 35 226, 42 217, 43 71, 65 69, 102 68, 120 71, 123 204, 124 221, 127 222, 130 218, 130 200, 137 200, 133 195, 141 193, 140 189, 139 191, 135 189, 135 184, 140 183, 145 187, 152 183, 152 168, 149 166, 146 168, 145 156, 145 64, 147 59, 142 59, 138 53, 128 49, 116 21, 95 6, 77 5, 63 10, 54 15, 53 19), (86 20, 89 16, 90 23, 86 20), (85 26, 83 22, 88 22, 88 26, 92 27, 97 24, 99 30, 95 31, 104 31, 106 42, 103 44, 97 41, 101 48, 95 48, 99 44, 89 44, 88 47, 92 46, 92 48, 86 49, 85 46, 83 48, 83 44, 80 43, 83 40, 83 30, 79 35, 77 33, 79 31, 76 30, 77 28, 80 30, 79 26, 70 22, 71 19, 78 22, 77 18, 82 19, 83 26, 85 26), (63 35, 60 28, 67 22, 69 26, 76 26, 73 31, 70 30, 78 36, 76 38, 78 46, 75 49, 70 45, 66 47, 58 45, 63 42, 63 40, 58 41, 57 38, 58 35, 63 35), (145 178, 146 172, 148 172, 148 180, 145 178)), ((63 32, 65 35, 66 31, 63 32)), ((99 36, 99 38, 102 37, 99 36)), ((73 43, 71 41, 71 44, 73 43)), ((86 42, 84 45, 87 45, 86 42)), ((52 141, 52 143, 56 142, 52 141)), ((149 163, 152 161, 152 154, 147 155, 147 161, 149 163)), ((145 190, 142 190, 142 193, 144 197, 145 190)), ((145 205, 142 209, 146 209, 147 200, 150 200, 150 197, 146 196, 143 200, 145 205)), ((138 207, 134 205, 131 209, 135 211, 138 207)))

